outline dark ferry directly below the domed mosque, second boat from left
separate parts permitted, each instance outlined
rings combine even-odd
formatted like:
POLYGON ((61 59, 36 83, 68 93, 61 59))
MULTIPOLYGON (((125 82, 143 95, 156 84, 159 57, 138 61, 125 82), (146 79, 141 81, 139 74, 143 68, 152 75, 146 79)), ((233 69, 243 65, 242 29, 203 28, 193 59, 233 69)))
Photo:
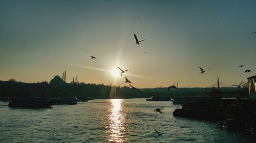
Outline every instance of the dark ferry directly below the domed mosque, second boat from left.
POLYGON ((49 101, 51 101, 53 105, 57 105, 57 104, 74 105, 74 104, 77 104, 77 100, 78 100, 77 97, 49 98, 49 101))

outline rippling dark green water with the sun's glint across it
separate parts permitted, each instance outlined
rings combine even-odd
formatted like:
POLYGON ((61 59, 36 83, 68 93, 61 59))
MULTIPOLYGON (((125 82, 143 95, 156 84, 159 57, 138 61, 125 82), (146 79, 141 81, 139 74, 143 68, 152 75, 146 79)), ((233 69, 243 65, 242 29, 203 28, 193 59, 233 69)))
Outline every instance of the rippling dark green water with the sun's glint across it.
POLYGON ((169 101, 90 100, 46 109, 0 102, 0 142, 255 142, 215 123, 173 117, 169 101), (154 109, 164 107, 163 113, 154 109), (157 129, 162 135, 155 138, 157 129))

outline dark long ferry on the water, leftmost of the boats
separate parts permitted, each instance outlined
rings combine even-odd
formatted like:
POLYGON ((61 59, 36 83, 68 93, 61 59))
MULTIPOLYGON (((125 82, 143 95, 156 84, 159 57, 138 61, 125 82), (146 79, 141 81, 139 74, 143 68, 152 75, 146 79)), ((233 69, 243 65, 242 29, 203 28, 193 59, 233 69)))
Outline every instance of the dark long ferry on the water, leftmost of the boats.
POLYGON ((9 107, 48 108, 52 102, 48 98, 9 98, 9 107))

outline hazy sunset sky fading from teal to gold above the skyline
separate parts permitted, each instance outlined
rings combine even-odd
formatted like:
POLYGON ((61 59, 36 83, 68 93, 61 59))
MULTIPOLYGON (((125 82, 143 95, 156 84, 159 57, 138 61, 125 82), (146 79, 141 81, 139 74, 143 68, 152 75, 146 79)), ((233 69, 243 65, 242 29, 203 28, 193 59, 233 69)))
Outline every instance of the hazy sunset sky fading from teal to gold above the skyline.
POLYGON ((79 82, 121 87, 129 86, 125 77, 137 88, 210 87, 217 76, 226 86, 239 84, 256 75, 255 7, 256 1, 1 0, 0 80, 49 82, 66 70, 66 82, 77 75, 79 82), (138 45, 134 34, 146 40, 138 45), (129 71, 114 77, 117 66, 129 71))

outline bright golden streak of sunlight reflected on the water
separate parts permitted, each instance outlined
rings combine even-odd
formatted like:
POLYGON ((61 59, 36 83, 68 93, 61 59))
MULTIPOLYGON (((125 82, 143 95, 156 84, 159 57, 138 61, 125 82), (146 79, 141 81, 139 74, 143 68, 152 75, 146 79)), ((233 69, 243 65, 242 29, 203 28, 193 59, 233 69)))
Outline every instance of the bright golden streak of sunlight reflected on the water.
POLYGON ((123 142, 125 138, 125 119, 122 110, 122 99, 112 99, 111 114, 109 115, 108 138, 110 142, 123 142))

